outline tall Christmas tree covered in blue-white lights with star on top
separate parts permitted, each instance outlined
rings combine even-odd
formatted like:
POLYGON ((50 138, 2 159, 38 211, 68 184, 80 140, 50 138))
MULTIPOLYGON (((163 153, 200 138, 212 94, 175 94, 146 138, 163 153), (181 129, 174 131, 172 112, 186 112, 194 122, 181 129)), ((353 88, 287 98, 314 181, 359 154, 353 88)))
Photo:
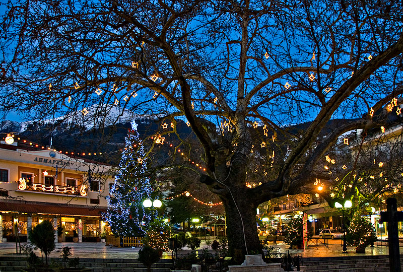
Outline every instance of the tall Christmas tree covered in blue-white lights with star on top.
POLYGON ((144 236, 146 226, 155 216, 155 211, 143 207, 143 201, 151 198, 152 184, 150 178, 144 175, 147 163, 135 120, 131 127, 125 139, 115 183, 106 197, 108 211, 105 218, 113 234, 118 236, 144 236))

